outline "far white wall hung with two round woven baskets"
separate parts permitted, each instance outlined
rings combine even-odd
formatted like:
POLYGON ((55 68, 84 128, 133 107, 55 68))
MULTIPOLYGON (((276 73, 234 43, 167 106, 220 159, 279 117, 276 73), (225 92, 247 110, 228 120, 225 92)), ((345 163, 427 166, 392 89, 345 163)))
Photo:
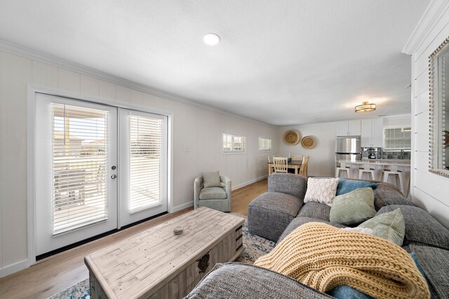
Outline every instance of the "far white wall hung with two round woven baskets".
MULTIPOLYGON (((384 127, 386 126, 410 126, 409 116, 384 117, 384 127)), ((279 128, 279 154, 287 156, 291 154, 302 154, 309 156, 308 175, 334 176, 335 175, 335 122, 304 124, 297 126, 283 126, 279 128), (311 150, 304 149, 301 143, 297 145, 287 145, 283 141, 283 134, 286 131, 295 129, 300 132, 301 137, 312 135, 316 140, 316 147, 311 150)))

